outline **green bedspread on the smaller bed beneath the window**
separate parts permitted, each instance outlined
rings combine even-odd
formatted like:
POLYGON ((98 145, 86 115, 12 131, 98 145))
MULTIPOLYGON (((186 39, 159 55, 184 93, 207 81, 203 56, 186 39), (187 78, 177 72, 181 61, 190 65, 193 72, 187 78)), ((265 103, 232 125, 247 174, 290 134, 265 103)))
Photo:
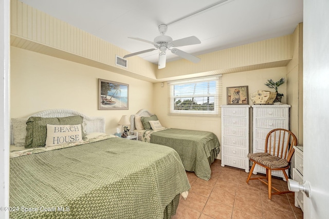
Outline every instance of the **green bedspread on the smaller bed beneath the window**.
POLYGON ((151 143, 175 149, 187 171, 209 180, 210 164, 220 152, 220 143, 212 132, 186 129, 165 129, 152 132, 151 143))

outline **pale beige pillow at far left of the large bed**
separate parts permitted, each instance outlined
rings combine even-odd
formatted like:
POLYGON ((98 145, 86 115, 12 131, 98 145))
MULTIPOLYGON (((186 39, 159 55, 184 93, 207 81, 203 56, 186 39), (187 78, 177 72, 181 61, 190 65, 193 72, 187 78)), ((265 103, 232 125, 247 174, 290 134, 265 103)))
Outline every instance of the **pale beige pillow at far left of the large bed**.
POLYGON ((25 145, 26 137, 26 121, 28 118, 12 118, 12 134, 14 136, 14 145, 23 147, 25 145))

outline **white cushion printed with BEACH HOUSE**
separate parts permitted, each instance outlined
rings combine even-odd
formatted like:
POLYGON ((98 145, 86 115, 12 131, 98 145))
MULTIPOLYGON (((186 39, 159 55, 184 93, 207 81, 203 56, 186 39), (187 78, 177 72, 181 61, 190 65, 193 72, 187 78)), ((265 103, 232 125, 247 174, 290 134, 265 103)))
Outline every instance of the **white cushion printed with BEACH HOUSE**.
POLYGON ((54 146, 71 142, 81 142, 82 132, 79 125, 47 124, 46 146, 54 146))

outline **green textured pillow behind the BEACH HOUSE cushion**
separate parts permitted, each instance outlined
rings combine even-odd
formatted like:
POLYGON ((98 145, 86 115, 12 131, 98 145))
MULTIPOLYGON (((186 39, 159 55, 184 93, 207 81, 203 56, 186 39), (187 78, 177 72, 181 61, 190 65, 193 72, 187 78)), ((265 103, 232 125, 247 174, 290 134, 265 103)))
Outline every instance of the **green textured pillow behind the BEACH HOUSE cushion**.
POLYGON ((86 136, 83 131, 83 117, 73 115, 67 117, 36 117, 31 116, 26 122, 25 148, 43 147, 46 144, 47 124, 50 125, 79 125, 81 124, 82 138, 86 136))

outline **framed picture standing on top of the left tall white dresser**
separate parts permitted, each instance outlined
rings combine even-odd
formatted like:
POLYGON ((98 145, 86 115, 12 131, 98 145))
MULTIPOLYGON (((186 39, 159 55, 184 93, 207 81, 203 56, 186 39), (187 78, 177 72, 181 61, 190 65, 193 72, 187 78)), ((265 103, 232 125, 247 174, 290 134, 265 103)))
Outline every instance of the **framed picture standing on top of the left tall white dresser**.
POLYGON ((227 105, 248 105, 248 86, 236 86, 226 88, 227 105))

